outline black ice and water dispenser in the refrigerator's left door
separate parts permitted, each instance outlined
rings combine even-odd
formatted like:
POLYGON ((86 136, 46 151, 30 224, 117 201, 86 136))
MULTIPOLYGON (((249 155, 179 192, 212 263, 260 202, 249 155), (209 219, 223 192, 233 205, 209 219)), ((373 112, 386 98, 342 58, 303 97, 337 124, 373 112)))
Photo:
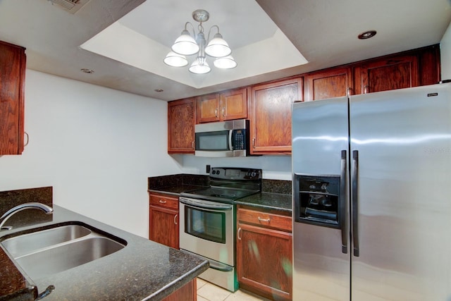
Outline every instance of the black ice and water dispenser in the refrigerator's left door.
POLYGON ((295 174, 294 199, 296 222, 340 228, 340 176, 295 174))

